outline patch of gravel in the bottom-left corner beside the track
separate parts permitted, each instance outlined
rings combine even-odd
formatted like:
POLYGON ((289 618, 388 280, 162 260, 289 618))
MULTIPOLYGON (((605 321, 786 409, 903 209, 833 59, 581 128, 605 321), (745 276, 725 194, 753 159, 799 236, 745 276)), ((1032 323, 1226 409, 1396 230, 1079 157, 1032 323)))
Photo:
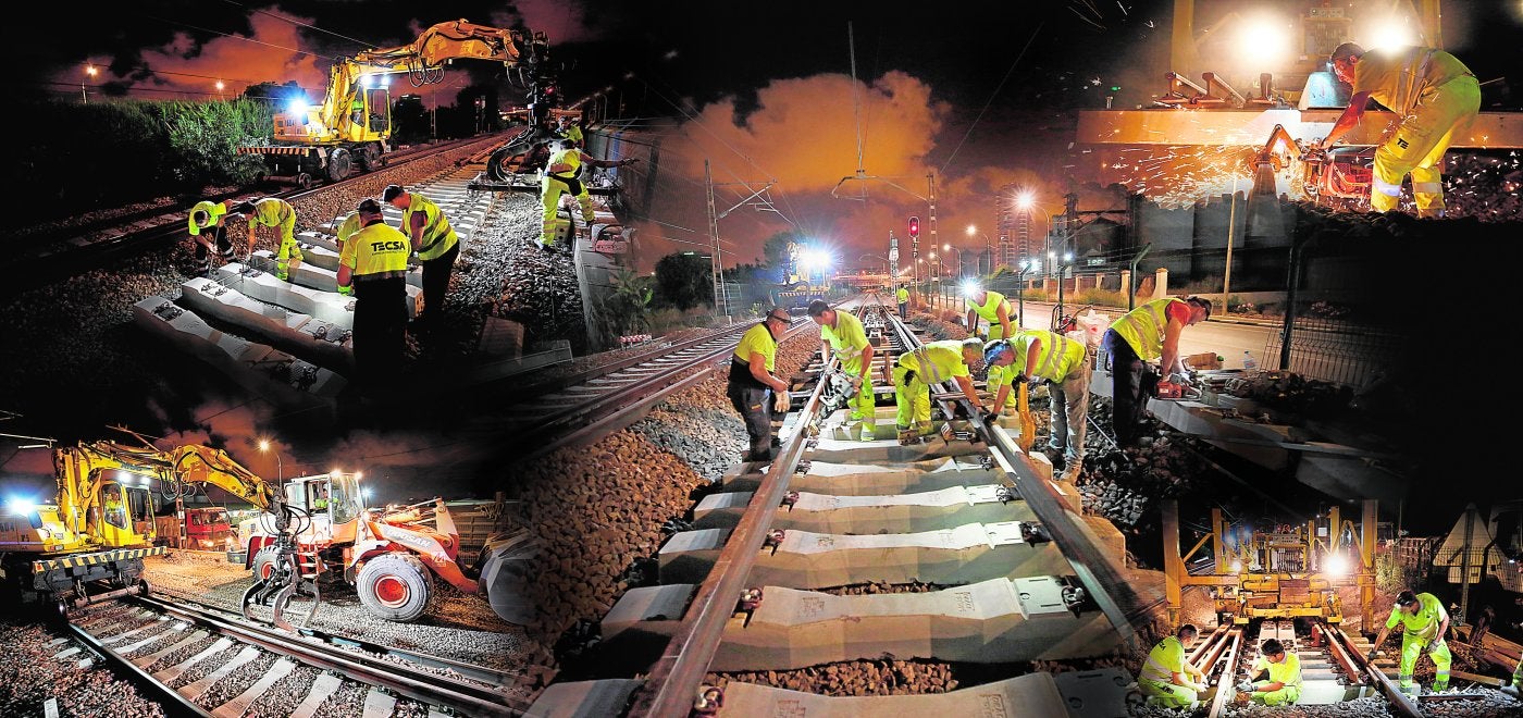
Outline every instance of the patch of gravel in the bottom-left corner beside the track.
POLYGON ((40 625, 0 620, 0 715, 41 718, 46 701, 55 700, 61 716, 158 718, 163 707, 137 694, 99 665, 78 666, 88 652, 53 659, 73 643, 40 625))

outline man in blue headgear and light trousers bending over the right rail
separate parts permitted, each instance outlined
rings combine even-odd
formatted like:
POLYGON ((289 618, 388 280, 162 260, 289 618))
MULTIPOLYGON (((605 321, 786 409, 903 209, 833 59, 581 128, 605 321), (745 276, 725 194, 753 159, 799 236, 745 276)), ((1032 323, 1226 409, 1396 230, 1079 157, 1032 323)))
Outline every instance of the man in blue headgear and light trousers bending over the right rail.
POLYGON ((984 363, 990 366, 991 390, 995 367, 1004 367, 999 393, 995 395, 996 407, 1010 401, 1011 389, 1020 381, 1048 383, 1052 415, 1046 450, 1049 456, 1062 457, 1062 480, 1078 479, 1084 463, 1089 373, 1094 366, 1084 345, 1046 329, 1022 329, 1008 340, 984 345, 984 363))

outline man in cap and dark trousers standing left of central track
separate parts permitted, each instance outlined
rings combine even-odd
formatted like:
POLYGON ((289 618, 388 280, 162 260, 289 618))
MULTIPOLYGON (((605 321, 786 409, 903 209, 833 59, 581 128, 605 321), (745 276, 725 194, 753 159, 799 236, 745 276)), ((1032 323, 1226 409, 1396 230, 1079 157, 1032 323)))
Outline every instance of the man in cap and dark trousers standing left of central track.
POLYGON ((772 415, 787 413, 790 396, 787 383, 772 373, 777 361, 777 340, 783 337, 792 317, 787 309, 774 306, 760 325, 746 329, 730 358, 730 384, 725 395, 746 422, 751 438, 748 462, 771 462, 772 415))

